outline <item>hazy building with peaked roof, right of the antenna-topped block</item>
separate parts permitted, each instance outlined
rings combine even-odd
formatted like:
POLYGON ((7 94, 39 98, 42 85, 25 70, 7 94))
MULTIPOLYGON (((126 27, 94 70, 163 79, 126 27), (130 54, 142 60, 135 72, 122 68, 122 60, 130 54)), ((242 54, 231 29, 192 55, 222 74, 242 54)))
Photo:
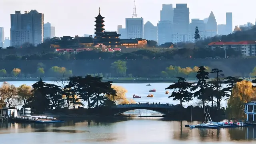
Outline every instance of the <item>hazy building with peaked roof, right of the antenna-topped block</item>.
POLYGON ((144 39, 157 41, 157 27, 150 21, 144 24, 144 39))

